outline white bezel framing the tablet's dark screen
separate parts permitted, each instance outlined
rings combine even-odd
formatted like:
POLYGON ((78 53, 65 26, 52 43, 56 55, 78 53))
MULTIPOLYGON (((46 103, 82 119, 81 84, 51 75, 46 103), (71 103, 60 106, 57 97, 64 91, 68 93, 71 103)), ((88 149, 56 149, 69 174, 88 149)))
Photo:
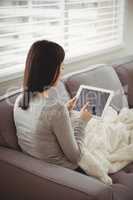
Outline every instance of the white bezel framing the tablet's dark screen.
POLYGON ((108 106, 109 106, 109 104, 110 104, 110 102, 111 102, 111 100, 112 100, 112 98, 114 96, 114 91, 113 90, 104 89, 104 88, 99 88, 99 87, 88 86, 88 85, 80 85, 80 87, 79 87, 79 89, 77 91, 77 94, 75 96, 77 101, 79 99, 79 96, 80 96, 80 93, 81 93, 82 89, 88 89, 88 90, 94 90, 94 91, 109 93, 109 97, 108 97, 107 102, 106 102, 106 104, 104 106, 102 115, 101 116, 93 115, 93 118, 103 119, 105 111, 108 108, 108 106))

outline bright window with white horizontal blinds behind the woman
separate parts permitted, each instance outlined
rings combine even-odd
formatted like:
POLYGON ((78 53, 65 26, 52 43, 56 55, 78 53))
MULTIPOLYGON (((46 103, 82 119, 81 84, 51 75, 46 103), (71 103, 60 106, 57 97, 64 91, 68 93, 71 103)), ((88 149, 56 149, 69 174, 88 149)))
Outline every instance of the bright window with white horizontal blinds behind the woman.
POLYGON ((30 45, 60 43, 66 59, 123 42, 124 0, 1 0, 0 70, 23 69, 30 45))

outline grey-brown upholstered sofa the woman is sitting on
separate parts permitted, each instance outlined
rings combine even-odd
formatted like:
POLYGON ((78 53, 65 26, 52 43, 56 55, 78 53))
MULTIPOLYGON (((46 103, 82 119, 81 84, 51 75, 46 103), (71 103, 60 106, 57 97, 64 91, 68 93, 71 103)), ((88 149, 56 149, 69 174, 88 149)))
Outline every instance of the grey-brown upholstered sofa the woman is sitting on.
MULTIPOLYGON (((100 64, 64 75, 57 86, 62 101, 73 97, 80 84, 113 89, 111 105, 133 107, 133 60, 100 64)), ((21 90, 0 98, 1 200, 133 200, 133 163, 110 174, 113 185, 95 177, 52 165, 21 151, 13 120, 13 105, 21 90)))

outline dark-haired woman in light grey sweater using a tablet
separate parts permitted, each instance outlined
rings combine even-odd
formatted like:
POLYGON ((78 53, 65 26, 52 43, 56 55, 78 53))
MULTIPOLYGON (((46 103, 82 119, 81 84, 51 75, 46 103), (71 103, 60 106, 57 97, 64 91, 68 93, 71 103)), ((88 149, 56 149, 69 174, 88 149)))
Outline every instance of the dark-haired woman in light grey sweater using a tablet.
POLYGON ((84 105, 73 129, 70 113, 76 98, 66 104, 59 100, 53 103, 49 95, 60 80, 64 57, 63 48, 54 42, 37 41, 31 46, 24 73, 24 92, 16 99, 14 120, 18 143, 25 153, 77 169, 80 143, 91 114, 84 105))

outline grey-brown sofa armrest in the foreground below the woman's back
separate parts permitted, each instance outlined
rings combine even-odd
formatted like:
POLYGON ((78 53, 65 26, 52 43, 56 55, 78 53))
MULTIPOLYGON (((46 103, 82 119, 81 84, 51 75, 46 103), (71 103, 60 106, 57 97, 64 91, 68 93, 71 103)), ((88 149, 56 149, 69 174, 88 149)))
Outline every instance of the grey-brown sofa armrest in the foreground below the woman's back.
POLYGON ((0 196, 3 199, 112 199, 109 186, 70 169, 0 147, 0 196))

